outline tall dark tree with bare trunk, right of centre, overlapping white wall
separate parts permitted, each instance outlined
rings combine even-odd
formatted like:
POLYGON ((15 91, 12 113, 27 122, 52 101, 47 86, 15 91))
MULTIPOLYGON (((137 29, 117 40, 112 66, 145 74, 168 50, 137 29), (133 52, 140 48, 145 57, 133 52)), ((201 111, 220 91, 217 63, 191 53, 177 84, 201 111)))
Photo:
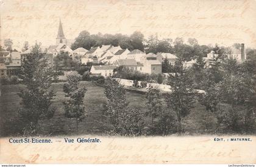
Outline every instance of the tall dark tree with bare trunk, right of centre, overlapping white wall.
POLYGON ((168 85, 171 86, 171 93, 166 96, 166 103, 169 108, 176 112, 177 131, 182 132, 182 118, 190 113, 194 102, 193 77, 191 73, 183 66, 181 59, 178 59, 174 65, 175 75, 169 74, 168 85))

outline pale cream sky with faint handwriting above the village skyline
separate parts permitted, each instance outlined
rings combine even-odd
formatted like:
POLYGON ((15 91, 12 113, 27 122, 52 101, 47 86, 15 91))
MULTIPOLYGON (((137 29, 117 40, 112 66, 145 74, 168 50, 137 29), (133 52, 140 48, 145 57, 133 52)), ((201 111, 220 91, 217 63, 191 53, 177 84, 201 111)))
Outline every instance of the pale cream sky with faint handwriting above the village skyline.
POLYGON ((199 44, 245 43, 256 48, 256 1, 196 0, 0 0, 0 39, 43 46, 55 44, 59 19, 65 37, 127 34, 138 30, 158 38, 196 38, 199 44))

